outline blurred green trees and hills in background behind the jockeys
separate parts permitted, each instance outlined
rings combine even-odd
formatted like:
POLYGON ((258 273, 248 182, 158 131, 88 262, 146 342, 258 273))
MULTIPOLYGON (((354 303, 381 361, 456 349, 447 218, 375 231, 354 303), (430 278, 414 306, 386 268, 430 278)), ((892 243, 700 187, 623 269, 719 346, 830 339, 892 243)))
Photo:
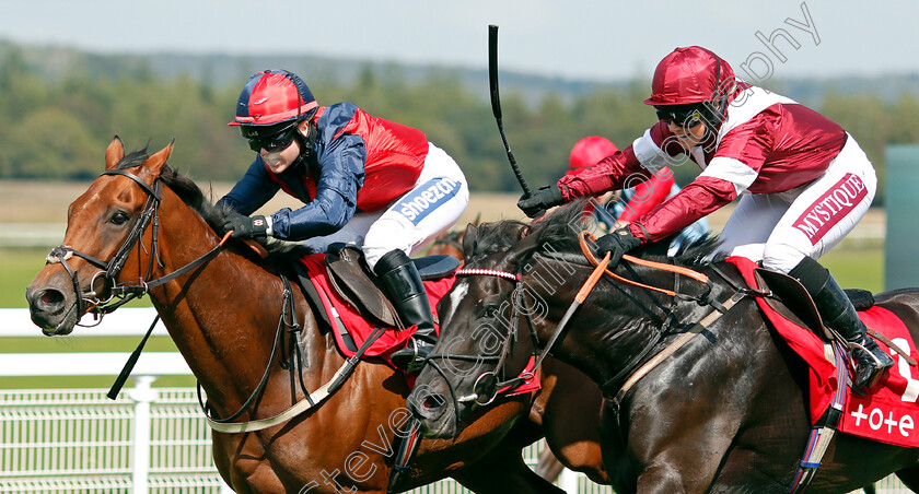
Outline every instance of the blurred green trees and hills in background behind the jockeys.
MULTIPOLYGON (((408 66, 315 56, 109 55, 0 42, 0 178, 85 179, 113 134, 177 138, 175 161, 196 178, 234 180, 252 152, 229 129, 243 82, 267 68, 301 74, 319 102, 352 101, 422 129, 461 163, 470 189, 517 188, 495 128, 482 68, 408 66), (55 139, 47 139, 49 128, 55 139)), ((882 201, 888 144, 919 142, 919 74, 766 81, 839 122, 874 163, 882 201)), ((556 180, 584 136, 628 145, 654 122, 650 81, 579 81, 501 71, 508 138, 533 185, 556 180)), ((141 145, 141 144, 132 144, 141 145)), ((159 145, 159 144, 154 144, 159 145)), ((674 170, 686 184, 698 169, 674 170)))

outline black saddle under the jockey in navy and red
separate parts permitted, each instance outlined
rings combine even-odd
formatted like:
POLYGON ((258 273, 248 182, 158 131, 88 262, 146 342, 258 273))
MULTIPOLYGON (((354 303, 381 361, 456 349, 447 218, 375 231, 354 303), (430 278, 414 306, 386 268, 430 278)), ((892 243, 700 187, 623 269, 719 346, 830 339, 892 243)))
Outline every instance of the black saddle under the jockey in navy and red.
MULTIPOLYGON (((460 268, 460 260, 446 255, 412 261, 421 280, 439 280, 452 275, 460 268)), ((330 284, 349 305, 386 326, 405 329, 398 311, 364 262, 363 252, 354 247, 331 250, 326 254, 325 266, 330 284)))

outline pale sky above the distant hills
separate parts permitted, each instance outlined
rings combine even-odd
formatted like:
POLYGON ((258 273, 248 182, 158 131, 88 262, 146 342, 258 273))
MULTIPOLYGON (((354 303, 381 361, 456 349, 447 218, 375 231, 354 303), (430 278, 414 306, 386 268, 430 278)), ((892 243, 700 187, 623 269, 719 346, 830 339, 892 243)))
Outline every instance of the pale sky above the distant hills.
POLYGON ((760 82, 919 73, 917 20, 915 0, 30 0, 3 2, 0 39, 485 68, 496 24, 501 70, 650 79, 675 47, 701 45, 760 82))

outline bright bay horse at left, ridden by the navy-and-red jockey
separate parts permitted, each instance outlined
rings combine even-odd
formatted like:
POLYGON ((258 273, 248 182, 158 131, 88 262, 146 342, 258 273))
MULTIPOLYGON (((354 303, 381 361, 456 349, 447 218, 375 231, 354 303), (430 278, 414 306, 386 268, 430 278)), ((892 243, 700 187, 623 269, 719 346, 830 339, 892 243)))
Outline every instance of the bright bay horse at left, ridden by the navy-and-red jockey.
MULTIPOLYGON (((330 383, 345 358, 280 269, 241 243, 222 244, 221 213, 166 165, 172 150, 126 155, 113 139, 105 172, 69 208, 63 245, 26 290, 32 319, 45 334, 68 334, 88 311, 117 308, 106 302, 116 291, 149 294, 210 416, 272 417, 330 383), (299 367, 294 351, 276 352, 288 331, 303 339, 299 367)), ((214 431, 214 463, 240 493, 389 492, 408 392, 400 373, 362 362, 305 413, 254 432, 214 431)), ((422 439, 393 490, 453 477, 481 493, 561 492, 523 462, 521 448, 536 433, 508 435, 531 397, 499 401, 458 437, 422 439)))

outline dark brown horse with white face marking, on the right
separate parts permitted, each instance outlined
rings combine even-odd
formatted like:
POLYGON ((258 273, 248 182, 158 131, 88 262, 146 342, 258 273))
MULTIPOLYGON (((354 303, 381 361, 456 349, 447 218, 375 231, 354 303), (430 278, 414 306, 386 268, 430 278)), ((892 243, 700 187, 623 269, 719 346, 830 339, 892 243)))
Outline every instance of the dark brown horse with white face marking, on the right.
MULTIPOLYGON (((505 221, 466 231, 465 275, 440 302, 441 339, 408 400, 429 437, 462 434, 464 417, 488 408, 496 380, 516 376, 552 341, 566 309, 577 307, 575 292, 594 271, 574 233, 583 205, 575 202, 531 225, 505 221)), ((636 256, 654 259, 653 247, 636 256)), ((716 248, 717 240, 708 239, 674 259, 708 274, 708 287, 670 271, 619 263, 615 274, 674 287, 682 296, 604 277, 551 346, 554 357, 617 398, 605 402, 601 442, 618 493, 778 493, 792 485, 811 433, 806 368, 769 329, 753 296, 740 298, 617 396, 629 370, 716 313, 697 303, 705 293, 723 303, 737 294, 733 286, 745 286, 733 264, 711 259, 716 248)), ((877 294, 875 304, 898 316, 916 340, 919 291, 877 294)), ((849 492, 894 472, 919 489, 919 450, 841 433, 833 437, 809 492, 849 492)))

